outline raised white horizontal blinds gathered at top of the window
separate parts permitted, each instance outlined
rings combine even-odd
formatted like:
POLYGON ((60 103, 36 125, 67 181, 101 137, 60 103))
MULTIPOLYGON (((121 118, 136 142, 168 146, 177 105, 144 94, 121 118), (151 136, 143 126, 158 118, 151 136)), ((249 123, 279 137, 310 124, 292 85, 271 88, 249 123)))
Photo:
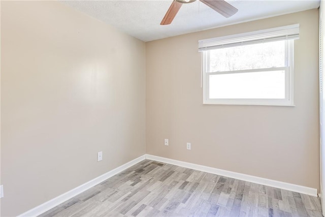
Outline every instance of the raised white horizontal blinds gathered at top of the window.
POLYGON ((199 52, 247 44, 299 39, 299 24, 262 29, 249 33, 199 40, 199 52))

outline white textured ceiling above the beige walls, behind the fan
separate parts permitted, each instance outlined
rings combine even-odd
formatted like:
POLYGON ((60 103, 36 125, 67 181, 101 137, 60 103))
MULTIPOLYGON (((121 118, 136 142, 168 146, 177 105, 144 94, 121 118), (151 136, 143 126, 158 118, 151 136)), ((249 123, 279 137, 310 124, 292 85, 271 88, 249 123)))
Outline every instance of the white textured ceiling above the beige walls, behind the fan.
POLYGON ((320 0, 228 0, 238 12, 225 18, 196 1, 183 4, 172 24, 160 25, 173 0, 62 1, 91 17, 111 24, 142 41, 152 41, 200 30, 273 17, 319 7, 320 0))

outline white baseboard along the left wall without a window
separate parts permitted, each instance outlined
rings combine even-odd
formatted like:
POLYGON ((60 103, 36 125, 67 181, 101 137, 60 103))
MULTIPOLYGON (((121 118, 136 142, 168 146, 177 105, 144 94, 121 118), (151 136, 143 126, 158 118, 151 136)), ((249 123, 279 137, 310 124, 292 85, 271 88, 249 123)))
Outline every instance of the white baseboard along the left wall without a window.
POLYGON ((32 208, 18 216, 38 216, 48 210, 50 210, 51 208, 63 203, 64 201, 67 201, 75 196, 77 196, 78 194, 90 189, 91 187, 94 187, 96 184, 99 184, 103 181, 105 181, 106 179, 116 175, 117 173, 122 172, 123 170, 143 161, 146 159, 145 154, 143 156, 140 156, 139 158, 136 158, 132 161, 127 162, 126 164, 123 164, 122 166, 119 166, 103 175, 100 175, 84 184, 79 185, 77 188, 74 188, 72 190, 70 190, 69 192, 66 192, 56 198, 53 198, 52 200, 49 200, 35 208, 32 208))

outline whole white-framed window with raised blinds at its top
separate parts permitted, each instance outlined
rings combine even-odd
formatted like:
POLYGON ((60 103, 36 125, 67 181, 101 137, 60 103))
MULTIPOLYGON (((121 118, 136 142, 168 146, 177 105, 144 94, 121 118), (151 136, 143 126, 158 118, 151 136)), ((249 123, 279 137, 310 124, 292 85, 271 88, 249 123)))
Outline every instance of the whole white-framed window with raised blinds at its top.
POLYGON ((199 41, 204 104, 294 106, 299 24, 199 41))

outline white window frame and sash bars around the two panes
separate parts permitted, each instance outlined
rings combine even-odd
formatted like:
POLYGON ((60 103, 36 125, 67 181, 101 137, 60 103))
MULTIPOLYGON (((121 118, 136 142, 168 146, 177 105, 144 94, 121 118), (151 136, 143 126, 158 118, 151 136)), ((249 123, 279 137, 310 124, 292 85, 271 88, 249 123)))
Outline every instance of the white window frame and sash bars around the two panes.
MULTIPOLYGON (((298 24, 299 26, 299 24, 298 24)), ((252 32, 253 33, 253 32, 252 32)), ((247 35, 252 36, 252 33, 248 33, 247 35)), ((245 34, 240 34, 242 37, 245 34)), ((236 39, 236 37, 230 36, 232 40, 236 39)), ((220 37, 221 38, 221 37, 220 37)), ((222 37, 224 39, 226 37, 222 37)), ((298 33, 299 38, 299 33, 298 33)), ((297 38, 295 38, 297 39, 297 38)), ((211 39, 208 39, 211 41, 211 39)), ((207 41, 208 41, 207 40, 207 41)), ((213 39, 212 39, 213 40, 213 39)), ((210 50, 218 49, 219 47, 214 48, 211 46, 207 49, 200 48, 200 43, 203 40, 199 41, 199 51, 202 52, 202 74, 203 74, 203 104, 206 105, 264 105, 264 106, 295 106, 294 104, 294 39, 291 38, 283 38, 285 41, 285 67, 278 68, 267 68, 267 69, 248 69, 248 70, 239 70, 239 71, 227 71, 227 72, 209 72, 210 69, 210 50), (200 50, 202 49, 202 50, 200 50), (247 72, 265 72, 265 71, 285 71, 285 98, 284 99, 211 99, 209 98, 209 76, 214 74, 230 74, 230 73, 247 73, 247 72)), ((271 41, 271 40, 270 40, 271 41)), ((281 40, 276 40, 281 41, 281 40)), ((258 42, 254 42, 254 44, 267 42, 264 40, 259 40, 258 42)), ((249 42, 246 42, 247 44, 249 42)), ((237 46, 240 46, 238 42, 236 42, 237 46)), ((253 44, 253 43, 252 43, 253 44)), ((203 47, 203 46, 202 46, 203 47)), ((231 46, 229 46, 231 47, 231 46)))

